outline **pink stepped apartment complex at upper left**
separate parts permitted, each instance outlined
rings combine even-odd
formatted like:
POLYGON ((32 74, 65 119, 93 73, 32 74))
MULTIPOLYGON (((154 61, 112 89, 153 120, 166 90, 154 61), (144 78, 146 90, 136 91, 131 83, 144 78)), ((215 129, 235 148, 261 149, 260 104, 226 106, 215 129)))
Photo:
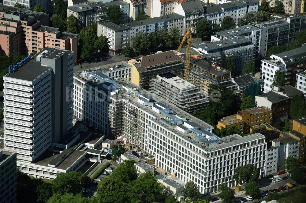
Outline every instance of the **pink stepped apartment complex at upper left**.
POLYGON ((73 62, 76 62, 77 34, 48 25, 46 13, 0 5, 0 50, 6 55, 12 52, 27 55, 45 47, 60 48, 73 51, 73 62))

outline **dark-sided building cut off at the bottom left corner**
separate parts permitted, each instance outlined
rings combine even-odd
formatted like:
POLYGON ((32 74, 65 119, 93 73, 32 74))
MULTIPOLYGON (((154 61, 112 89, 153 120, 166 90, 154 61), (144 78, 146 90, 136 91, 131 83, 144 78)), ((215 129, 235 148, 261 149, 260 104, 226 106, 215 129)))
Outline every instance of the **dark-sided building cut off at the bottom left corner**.
POLYGON ((0 203, 16 202, 16 152, 0 149, 0 203))

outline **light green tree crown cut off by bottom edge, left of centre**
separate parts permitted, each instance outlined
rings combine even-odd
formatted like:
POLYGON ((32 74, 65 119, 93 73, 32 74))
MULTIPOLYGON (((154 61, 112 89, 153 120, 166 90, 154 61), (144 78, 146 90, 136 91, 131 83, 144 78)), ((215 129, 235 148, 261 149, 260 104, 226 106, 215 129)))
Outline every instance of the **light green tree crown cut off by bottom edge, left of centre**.
POLYGON ((47 201, 47 203, 87 203, 88 199, 82 197, 81 193, 73 194, 73 193, 55 193, 52 197, 47 201))

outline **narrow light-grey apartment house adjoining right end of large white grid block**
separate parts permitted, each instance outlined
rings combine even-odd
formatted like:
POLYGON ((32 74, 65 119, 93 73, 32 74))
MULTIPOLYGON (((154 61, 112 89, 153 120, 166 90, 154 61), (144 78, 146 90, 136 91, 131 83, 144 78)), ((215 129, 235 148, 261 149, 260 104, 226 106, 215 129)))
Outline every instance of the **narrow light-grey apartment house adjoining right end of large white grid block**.
POLYGON ((279 147, 274 147, 271 145, 267 148, 267 166, 266 166, 266 176, 276 173, 278 171, 278 157, 279 147))

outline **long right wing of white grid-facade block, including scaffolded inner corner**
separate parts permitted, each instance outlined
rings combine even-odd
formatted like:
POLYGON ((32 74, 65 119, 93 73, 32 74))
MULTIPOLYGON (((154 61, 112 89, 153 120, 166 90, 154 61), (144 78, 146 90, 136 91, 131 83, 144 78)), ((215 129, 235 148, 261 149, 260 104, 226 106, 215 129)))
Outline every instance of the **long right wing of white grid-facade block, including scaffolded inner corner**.
POLYGON ((125 93, 111 97, 110 126, 114 137, 124 136, 155 157, 155 165, 183 182, 193 181, 201 193, 225 183, 237 185, 234 169, 251 163, 266 170, 267 143, 257 133, 219 138, 212 126, 159 97, 121 80, 125 93))

